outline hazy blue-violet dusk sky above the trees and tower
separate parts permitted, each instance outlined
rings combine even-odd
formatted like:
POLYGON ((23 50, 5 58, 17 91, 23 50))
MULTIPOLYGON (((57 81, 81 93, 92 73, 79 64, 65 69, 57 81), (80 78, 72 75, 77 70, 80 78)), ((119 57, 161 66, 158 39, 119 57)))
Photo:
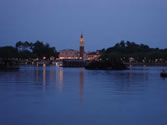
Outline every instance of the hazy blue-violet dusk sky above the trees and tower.
POLYGON ((86 51, 121 40, 167 48, 167 0, 0 0, 0 46, 41 40, 86 51))

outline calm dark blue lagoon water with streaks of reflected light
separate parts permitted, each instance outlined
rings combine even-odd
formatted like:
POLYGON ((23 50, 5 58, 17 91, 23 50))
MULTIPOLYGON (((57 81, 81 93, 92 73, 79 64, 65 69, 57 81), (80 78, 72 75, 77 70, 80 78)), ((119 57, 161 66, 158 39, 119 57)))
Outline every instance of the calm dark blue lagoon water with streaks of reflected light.
POLYGON ((164 67, 0 72, 0 125, 167 125, 164 67))

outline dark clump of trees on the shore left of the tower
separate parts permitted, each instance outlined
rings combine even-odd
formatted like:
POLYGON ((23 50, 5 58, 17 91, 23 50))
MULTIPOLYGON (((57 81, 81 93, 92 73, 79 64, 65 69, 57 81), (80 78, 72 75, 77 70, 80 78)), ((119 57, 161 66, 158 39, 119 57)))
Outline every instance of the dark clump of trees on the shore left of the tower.
POLYGON ((49 58, 51 56, 58 57, 56 48, 50 47, 48 43, 44 44, 41 41, 36 41, 35 43, 18 41, 15 47, 0 47, 1 58, 42 59, 42 57, 49 58))

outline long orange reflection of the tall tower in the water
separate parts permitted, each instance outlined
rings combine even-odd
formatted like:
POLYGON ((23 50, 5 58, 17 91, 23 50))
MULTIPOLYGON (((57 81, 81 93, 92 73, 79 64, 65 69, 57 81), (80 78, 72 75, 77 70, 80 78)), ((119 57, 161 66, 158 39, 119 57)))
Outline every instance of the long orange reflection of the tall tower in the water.
POLYGON ((84 69, 80 69, 80 103, 83 103, 84 69))

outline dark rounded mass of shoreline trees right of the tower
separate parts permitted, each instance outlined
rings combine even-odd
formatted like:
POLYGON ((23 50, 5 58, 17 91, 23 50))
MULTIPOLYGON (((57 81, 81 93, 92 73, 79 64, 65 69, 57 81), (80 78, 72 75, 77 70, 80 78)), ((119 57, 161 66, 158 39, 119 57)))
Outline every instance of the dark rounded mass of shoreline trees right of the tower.
POLYGON ((130 58, 140 63, 164 63, 167 60, 167 49, 150 48, 148 45, 130 41, 121 41, 100 52, 101 58, 120 58, 124 62, 129 62, 130 58))

